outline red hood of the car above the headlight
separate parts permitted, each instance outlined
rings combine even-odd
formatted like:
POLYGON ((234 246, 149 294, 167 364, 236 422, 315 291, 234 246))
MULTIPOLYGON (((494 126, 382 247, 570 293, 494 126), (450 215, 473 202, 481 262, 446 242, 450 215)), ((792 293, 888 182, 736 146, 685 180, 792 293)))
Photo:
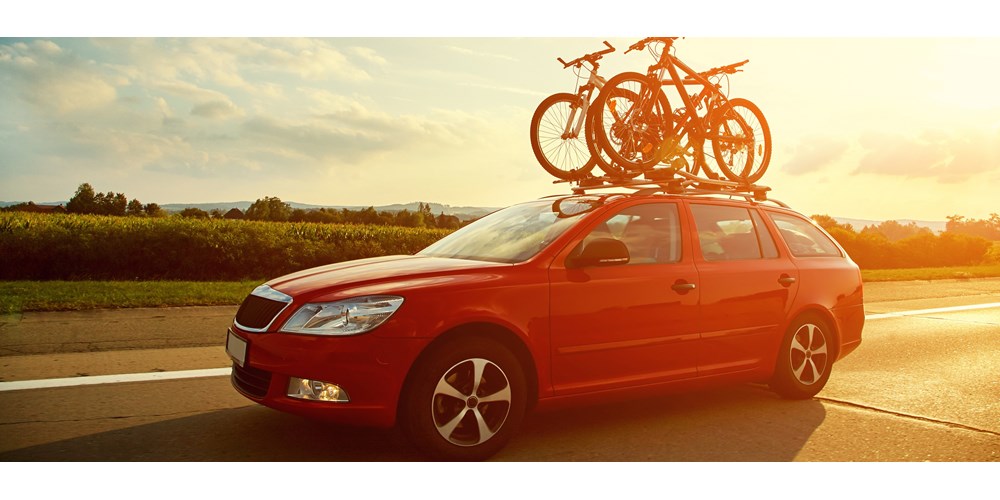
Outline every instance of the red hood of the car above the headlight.
POLYGON ((348 288, 359 293, 389 293, 393 289, 413 288, 442 281, 435 278, 510 265, 420 255, 391 255, 306 269, 273 279, 267 285, 292 297, 325 295, 348 288))

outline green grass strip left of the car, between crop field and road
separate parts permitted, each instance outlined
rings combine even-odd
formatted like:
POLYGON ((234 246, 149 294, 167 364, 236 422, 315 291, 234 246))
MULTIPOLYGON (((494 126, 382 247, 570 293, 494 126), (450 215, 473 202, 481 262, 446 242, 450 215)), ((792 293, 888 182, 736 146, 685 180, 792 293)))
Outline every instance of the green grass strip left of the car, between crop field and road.
POLYGON ((0 281, 0 314, 238 305, 261 281, 0 281))

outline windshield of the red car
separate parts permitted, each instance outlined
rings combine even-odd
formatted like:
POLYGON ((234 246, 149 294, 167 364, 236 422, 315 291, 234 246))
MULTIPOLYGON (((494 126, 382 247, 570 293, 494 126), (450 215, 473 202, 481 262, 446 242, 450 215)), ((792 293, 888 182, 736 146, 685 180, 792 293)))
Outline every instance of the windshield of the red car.
POLYGON ((530 259, 600 206, 601 199, 576 196, 540 200, 493 212, 465 226, 417 255, 515 263, 530 259))

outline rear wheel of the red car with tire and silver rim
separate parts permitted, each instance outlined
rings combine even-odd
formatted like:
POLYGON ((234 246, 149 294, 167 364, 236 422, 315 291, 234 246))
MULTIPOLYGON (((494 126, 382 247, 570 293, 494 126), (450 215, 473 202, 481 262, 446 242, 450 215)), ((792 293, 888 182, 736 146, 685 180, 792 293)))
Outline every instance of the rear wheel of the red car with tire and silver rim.
POLYGON ((809 399, 830 378, 833 367, 833 330, 814 315, 792 322, 781 342, 771 389, 787 399, 809 399))

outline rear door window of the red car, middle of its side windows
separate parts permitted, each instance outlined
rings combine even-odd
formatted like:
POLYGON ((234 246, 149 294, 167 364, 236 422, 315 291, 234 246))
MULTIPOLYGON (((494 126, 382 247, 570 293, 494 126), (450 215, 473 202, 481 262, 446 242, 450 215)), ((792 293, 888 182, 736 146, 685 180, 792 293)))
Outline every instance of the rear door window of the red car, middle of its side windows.
POLYGON ((701 255, 707 261, 778 256, 760 216, 748 208, 691 204, 701 255), (764 238, 761 238, 764 236, 764 238))

